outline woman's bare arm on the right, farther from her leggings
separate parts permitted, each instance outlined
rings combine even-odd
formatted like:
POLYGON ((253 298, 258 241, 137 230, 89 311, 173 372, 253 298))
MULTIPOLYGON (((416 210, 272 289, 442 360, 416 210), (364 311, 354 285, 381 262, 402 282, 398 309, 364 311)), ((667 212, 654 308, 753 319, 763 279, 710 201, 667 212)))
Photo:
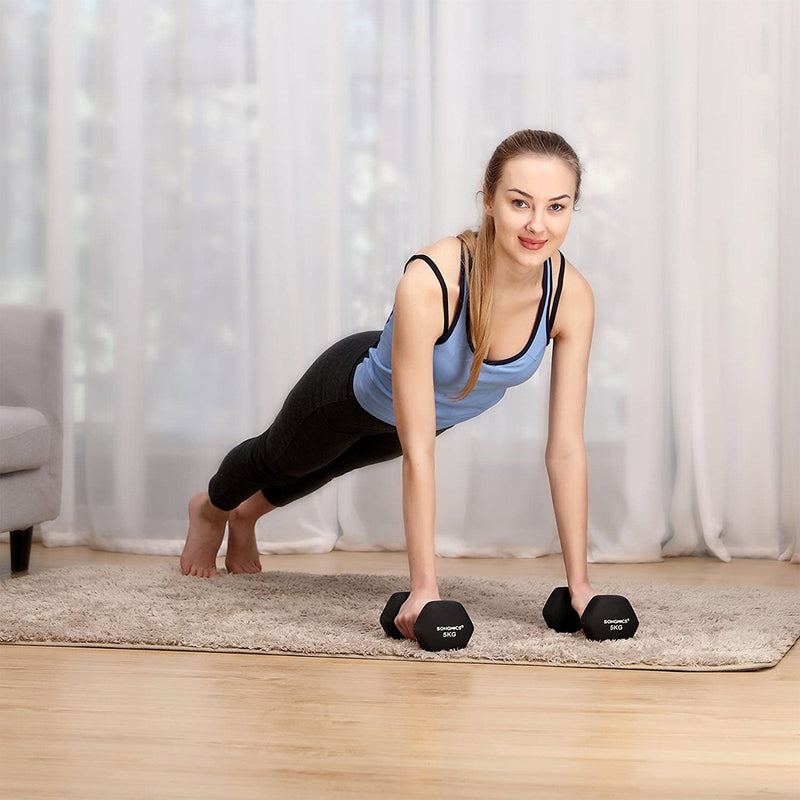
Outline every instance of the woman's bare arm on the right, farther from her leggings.
POLYGON ((593 594, 586 563, 588 489, 583 423, 589 351, 594 329, 591 287, 570 265, 553 327, 550 413, 545 451, 553 510, 561 540, 567 583, 583 607, 593 594))

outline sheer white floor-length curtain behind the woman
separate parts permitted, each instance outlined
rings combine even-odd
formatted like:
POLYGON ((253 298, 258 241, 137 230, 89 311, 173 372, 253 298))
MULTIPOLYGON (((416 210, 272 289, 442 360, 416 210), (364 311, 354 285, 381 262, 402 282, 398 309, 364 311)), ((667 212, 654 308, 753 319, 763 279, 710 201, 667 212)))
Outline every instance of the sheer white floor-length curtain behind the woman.
MULTIPOLYGON (((178 554, 222 456, 531 127, 586 166, 590 560, 800 562, 798 31, 793 0, 5 0, 0 301, 67 312, 45 543, 178 554)), ((440 554, 558 552, 548 379, 439 438, 440 554)), ((399 462, 257 532, 400 549, 399 462)))

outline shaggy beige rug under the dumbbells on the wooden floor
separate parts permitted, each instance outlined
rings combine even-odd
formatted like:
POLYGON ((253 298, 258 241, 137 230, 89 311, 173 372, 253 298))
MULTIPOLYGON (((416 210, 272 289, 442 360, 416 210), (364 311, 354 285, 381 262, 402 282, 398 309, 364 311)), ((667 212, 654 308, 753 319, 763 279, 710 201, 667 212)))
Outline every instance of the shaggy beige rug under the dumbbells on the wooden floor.
POLYGON ((440 577, 475 624, 464 650, 430 653, 378 622, 407 579, 263 572, 203 579, 177 564, 72 566, 0 582, 0 642, 406 658, 655 670, 774 666, 800 637, 800 592, 758 586, 595 582, 639 618, 632 639, 592 642, 542 618, 541 578, 440 577))

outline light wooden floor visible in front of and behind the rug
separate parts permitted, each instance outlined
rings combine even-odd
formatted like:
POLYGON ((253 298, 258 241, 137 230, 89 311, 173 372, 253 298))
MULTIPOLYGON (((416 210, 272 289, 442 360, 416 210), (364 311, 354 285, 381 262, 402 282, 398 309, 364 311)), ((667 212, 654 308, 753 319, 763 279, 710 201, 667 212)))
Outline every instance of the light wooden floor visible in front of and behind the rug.
MULTIPOLYGON (((163 560, 35 544, 31 572, 163 560)), ((262 563, 406 574, 403 553, 262 563)), ((558 555, 438 561, 466 573, 564 583, 558 555)), ((800 567, 761 560, 589 574, 800 587, 800 567)), ((5 645, 0 797, 800 798, 800 645, 741 673, 5 645)))

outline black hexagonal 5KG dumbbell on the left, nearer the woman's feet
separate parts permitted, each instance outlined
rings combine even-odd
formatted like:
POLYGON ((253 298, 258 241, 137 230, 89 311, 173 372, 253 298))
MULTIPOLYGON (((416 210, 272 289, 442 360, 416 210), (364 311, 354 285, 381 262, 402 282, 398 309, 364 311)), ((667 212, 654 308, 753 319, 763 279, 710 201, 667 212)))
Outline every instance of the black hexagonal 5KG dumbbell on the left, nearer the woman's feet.
MULTIPOLYGON (((404 638, 394 620, 409 594, 395 592, 381 613, 381 627, 393 639, 404 638)), ((423 650, 460 650, 467 646, 474 630, 466 609, 455 600, 431 600, 414 623, 414 635, 423 650)))

